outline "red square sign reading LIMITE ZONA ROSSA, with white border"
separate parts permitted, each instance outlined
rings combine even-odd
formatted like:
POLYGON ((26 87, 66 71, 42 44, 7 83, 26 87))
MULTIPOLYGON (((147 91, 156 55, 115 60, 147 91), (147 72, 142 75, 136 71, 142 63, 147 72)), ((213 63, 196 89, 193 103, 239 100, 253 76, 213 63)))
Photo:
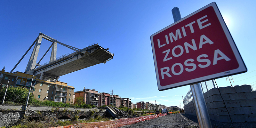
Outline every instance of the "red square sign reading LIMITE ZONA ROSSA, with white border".
POLYGON ((247 71, 215 2, 150 38, 160 91, 247 71))

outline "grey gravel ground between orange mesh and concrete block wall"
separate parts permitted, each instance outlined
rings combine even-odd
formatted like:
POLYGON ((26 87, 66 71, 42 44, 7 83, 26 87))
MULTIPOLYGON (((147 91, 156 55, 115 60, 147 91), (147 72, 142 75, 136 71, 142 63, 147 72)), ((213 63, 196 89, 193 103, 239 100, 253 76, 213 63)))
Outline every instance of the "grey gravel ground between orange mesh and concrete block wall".
MULTIPOLYGON (((256 128, 256 122, 217 122, 211 120, 212 128, 256 128)), ((121 128, 200 128, 196 116, 170 114, 156 119, 123 126, 121 128)))

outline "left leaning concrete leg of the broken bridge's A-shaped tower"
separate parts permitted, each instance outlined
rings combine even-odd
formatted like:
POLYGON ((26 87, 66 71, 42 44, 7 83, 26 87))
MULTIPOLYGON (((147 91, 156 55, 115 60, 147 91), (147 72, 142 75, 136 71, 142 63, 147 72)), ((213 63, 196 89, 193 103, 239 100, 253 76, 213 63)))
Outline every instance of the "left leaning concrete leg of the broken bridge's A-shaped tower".
POLYGON ((25 73, 33 75, 34 71, 31 71, 31 70, 33 70, 36 66, 36 60, 37 60, 38 52, 39 52, 39 49, 40 49, 40 46, 41 46, 41 42, 42 42, 42 35, 39 35, 37 37, 36 44, 35 44, 35 47, 33 49, 33 52, 31 53, 30 59, 28 61, 28 65, 27 65, 27 68, 25 70, 25 73))

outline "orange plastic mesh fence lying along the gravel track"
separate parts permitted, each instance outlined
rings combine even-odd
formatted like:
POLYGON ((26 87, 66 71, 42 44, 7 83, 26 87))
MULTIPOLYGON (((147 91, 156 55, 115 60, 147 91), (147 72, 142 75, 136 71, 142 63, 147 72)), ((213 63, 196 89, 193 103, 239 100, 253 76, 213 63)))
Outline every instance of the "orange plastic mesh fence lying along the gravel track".
POLYGON ((79 123, 74 125, 60 126, 60 127, 53 127, 53 128, 118 128, 125 125, 136 124, 138 122, 145 121, 145 120, 155 119, 160 116, 166 116, 166 113, 159 114, 159 115, 141 116, 136 118, 124 118, 124 119, 116 119, 116 120, 101 121, 101 122, 79 123))

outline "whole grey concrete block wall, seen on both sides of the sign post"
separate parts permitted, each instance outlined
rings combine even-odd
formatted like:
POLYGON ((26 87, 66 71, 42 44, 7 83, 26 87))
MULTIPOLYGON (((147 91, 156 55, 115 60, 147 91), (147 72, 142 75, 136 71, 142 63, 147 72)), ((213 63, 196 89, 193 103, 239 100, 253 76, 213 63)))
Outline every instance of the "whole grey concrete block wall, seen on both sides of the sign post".
MULTIPOLYGON (((219 89, 220 92, 218 88, 212 88, 204 93, 206 107, 212 120, 220 122, 256 121, 256 91, 252 91, 251 85, 236 85, 219 89)), ((184 106, 184 111, 186 114, 196 116, 193 101, 184 106)))

